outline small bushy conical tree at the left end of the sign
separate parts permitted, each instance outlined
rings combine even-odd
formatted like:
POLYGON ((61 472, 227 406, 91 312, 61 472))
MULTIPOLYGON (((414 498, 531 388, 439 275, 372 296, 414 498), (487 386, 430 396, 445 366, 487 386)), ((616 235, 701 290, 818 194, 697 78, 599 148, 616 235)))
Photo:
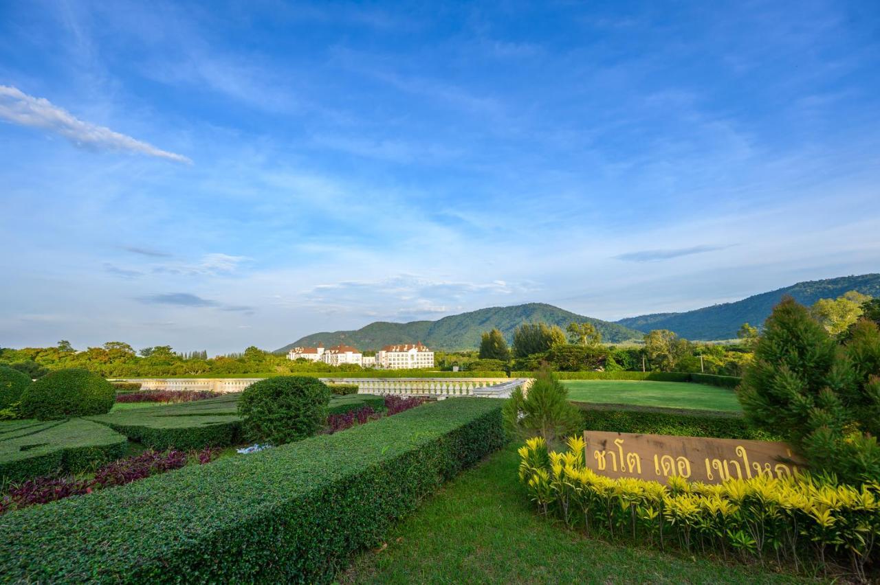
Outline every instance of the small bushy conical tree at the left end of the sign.
POLYGON ((528 392, 523 392, 522 387, 514 390, 504 403, 502 414, 510 435, 538 435, 548 445, 576 433, 583 424, 580 411, 568 401, 568 390, 546 368, 537 372, 528 392))

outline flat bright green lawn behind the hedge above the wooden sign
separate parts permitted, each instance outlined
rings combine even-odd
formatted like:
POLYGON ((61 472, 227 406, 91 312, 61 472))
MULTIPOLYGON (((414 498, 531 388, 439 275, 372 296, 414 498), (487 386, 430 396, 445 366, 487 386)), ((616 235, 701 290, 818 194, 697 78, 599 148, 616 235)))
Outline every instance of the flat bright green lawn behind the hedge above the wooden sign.
POLYGON ((730 388, 692 382, 648 380, 562 380, 568 399, 576 402, 635 404, 667 408, 697 408, 740 412, 737 394, 730 388))

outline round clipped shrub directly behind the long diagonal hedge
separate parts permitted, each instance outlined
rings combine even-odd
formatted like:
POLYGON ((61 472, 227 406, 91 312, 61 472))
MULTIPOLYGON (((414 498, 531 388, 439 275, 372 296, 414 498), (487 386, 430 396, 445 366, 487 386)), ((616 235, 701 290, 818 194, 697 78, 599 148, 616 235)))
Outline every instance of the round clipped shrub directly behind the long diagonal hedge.
POLYGON ((284 444, 312 437, 326 423, 330 388, 319 379, 279 376, 247 386, 238 400, 246 436, 284 444))

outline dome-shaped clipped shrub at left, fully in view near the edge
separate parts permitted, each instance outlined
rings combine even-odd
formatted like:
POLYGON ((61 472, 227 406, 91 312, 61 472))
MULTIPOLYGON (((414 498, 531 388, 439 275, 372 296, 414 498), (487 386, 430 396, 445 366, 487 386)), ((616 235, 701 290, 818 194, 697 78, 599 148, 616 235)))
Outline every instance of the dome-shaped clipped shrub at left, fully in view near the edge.
POLYGON ((103 415, 116 400, 113 384, 98 374, 70 368, 50 372, 33 382, 21 397, 21 411, 40 421, 71 416, 103 415))

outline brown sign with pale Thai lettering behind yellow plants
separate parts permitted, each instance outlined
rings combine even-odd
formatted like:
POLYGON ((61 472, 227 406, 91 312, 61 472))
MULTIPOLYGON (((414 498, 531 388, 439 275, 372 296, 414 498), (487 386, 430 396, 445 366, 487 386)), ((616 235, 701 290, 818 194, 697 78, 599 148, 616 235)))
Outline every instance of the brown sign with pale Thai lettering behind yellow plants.
POLYGON ((584 430, 587 467, 606 477, 665 483, 673 475, 721 483, 758 475, 782 477, 806 466, 785 443, 706 437, 673 437, 584 430))

